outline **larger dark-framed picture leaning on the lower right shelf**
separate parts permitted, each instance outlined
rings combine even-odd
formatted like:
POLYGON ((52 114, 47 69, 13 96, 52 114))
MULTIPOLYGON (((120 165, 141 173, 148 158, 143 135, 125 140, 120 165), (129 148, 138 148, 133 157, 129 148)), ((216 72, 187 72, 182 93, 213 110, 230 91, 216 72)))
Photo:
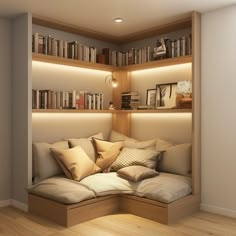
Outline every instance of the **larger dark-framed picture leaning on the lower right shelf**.
POLYGON ((176 107, 177 83, 156 85, 156 109, 171 109, 176 107))

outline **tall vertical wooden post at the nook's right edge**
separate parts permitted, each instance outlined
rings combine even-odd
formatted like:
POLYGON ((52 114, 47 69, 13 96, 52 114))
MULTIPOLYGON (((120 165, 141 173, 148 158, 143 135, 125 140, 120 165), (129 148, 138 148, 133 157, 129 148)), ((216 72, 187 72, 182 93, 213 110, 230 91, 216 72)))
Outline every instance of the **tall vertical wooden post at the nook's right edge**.
POLYGON ((192 192, 201 191, 201 15, 192 14, 192 74, 193 74, 193 149, 192 149, 192 192))

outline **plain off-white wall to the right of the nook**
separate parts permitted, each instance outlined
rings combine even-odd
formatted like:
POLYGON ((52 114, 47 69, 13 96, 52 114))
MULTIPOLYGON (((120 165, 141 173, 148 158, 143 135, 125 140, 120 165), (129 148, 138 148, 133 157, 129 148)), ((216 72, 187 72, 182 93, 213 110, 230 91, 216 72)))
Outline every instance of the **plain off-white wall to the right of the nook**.
POLYGON ((202 15, 202 208, 236 217, 236 6, 202 15))

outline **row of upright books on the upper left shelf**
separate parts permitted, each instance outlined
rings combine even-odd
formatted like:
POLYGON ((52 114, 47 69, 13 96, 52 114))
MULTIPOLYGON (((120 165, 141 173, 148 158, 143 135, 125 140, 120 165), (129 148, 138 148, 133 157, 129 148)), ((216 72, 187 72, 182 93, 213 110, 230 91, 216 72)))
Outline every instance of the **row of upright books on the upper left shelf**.
POLYGON ((71 58, 96 63, 97 49, 82 45, 77 41, 67 42, 51 35, 32 35, 32 51, 46 55, 71 58))

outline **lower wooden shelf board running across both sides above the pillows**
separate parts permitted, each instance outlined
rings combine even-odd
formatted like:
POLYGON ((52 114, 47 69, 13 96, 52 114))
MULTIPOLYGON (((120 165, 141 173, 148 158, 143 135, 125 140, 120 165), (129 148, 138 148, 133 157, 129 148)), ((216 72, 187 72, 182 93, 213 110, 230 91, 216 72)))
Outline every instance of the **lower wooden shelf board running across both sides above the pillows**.
POLYGON ((33 113, 191 113, 191 109, 156 110, 77 110, 77 109, 32 109, 33 113))

